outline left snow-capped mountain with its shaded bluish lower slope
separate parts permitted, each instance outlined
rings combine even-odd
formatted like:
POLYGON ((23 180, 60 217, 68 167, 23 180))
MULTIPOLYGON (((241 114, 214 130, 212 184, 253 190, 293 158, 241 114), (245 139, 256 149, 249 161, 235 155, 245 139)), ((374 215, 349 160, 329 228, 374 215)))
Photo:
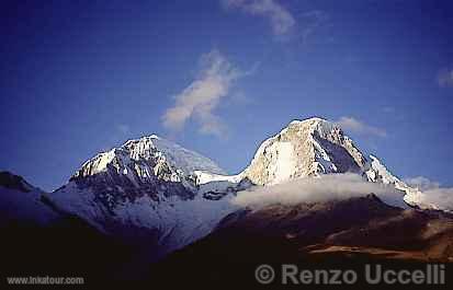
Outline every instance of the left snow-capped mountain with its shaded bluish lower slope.
POLYGON ((235 210, 229 196, 199 194, 197 171, 224 173, 209 159, 152 135, 95 155, 48 198, 105 233, 146 241, 160 256, 206 235, 235 210))

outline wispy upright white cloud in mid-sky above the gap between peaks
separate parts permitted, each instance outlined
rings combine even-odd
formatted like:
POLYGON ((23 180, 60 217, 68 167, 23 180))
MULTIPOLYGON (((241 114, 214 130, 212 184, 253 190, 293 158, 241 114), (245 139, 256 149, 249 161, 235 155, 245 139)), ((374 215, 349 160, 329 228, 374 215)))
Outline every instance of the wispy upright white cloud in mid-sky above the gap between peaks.
POLYGON ((174 96, 174 106, 168 108, 162 116, 163 126, 179 131, 190 118, 194 118, 200 125, 201 134, 222 137, 226 126, 214 111, 228 95, 235 81, 245 74, 218 50, 203 55, 197 78, 174 96))

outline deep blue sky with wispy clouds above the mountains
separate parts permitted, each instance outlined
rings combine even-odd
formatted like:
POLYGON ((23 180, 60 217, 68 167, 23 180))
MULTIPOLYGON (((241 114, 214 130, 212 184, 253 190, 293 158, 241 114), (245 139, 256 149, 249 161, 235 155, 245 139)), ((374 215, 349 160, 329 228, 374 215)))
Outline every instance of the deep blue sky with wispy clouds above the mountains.
POLYGON ((150 134, 239 172, 310 116, 401 177, 453 185, 449 1, 0 5, 0 167, 44 189, 150 134))

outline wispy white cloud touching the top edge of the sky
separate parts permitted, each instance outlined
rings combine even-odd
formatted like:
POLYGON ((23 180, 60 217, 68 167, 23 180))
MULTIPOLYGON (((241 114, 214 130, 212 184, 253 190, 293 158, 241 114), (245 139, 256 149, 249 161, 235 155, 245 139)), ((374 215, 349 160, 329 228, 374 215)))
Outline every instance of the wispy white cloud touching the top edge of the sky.
POLYGON ((296 24, 294 16, 275 0, 222 0, 226 8, 240 9, 251 15, 267 18, 275 35, 291 31, 296 24))

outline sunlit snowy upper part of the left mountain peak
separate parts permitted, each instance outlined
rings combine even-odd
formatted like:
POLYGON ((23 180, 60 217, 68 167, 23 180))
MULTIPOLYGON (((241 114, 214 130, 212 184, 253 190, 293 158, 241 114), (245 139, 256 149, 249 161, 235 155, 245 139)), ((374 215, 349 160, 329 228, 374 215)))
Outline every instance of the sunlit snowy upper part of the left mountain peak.
POLYGON ((110 181, 107 183, 124 185, 128 179, 127 184, 139 186, 156 178, 183 182, 194 171, 225 174, 212 160, 150 135, 127 140, 121 147, 97 154, 84 162, 71 179, 99 175, 99 178, 110 181))

